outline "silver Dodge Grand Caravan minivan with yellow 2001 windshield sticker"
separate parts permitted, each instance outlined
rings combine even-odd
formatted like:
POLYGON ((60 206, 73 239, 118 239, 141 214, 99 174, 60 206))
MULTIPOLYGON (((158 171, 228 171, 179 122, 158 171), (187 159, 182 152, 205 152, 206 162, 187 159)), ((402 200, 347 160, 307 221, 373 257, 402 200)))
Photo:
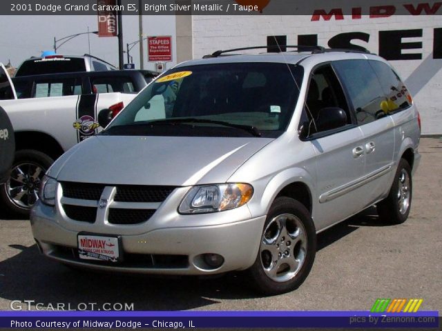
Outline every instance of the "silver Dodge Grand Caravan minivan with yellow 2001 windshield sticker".
POLYGON ((305 50, 219 51, 153 81, 48 170, 31 213, 41 252, 109 271, 248 270, 277 294, 309 274, 318 232, 374 204, 405 221, 410 93, 373 54, 305 50))

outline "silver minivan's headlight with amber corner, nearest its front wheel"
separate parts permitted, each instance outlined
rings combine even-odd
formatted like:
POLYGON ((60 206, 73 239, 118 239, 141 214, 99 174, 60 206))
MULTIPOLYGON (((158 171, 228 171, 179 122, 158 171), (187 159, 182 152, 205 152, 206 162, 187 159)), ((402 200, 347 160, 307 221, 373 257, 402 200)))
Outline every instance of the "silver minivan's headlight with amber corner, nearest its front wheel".
POLYGON ((253 188, 249 184, 194 186, 184 197, 179 212, 181 214, 200 214, 231 210, 249 202, 252 195, 253 188))

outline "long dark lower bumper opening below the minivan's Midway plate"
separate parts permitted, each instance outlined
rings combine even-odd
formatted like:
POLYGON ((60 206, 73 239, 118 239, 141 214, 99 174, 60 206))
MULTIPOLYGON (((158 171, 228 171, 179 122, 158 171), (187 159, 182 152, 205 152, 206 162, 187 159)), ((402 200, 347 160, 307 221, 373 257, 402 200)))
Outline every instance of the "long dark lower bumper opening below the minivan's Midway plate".
POLYGON ((95 261, 80 259, 78 249, 63 245, 52 245, 52 257, 77 261, 94 265, 110 265, 119 268, 161 268, 161 269, 181 269, 189 268, 189 257, 187 255, 166 255, 166 254, 134 254, 123 252, 123 261, 112 263, 106 261, 95 261))

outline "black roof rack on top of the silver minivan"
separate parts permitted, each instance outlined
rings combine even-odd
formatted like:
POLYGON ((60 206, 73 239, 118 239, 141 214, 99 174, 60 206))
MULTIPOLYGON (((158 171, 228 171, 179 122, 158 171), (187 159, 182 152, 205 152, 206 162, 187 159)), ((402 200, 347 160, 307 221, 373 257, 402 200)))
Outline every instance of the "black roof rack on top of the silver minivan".
MULTIPOLYGON (((358 50, 352 50, 349 48, 324 48, 323 46, 302 46, 302 45, 269 45, 269 46, 252 46, 252 47, 243 47, 243 48, 232 48, 231 50, 217 50, 216 52, 213 52, 212 54, 207 54, 202 57, 203 59, 209 59, 211 57, 220 57, 220 56, 226 56, 228 52, 236 52, 238 50, 259 50, 259 49, 267 49, 267 50, 279 50, 281 49, 287 49, 287 48, 297 48, 295 51, 291 52, 305 52, 305 51, 311 51, 311 54, 318 54, 318 53, 325 53, 325 52, 352 52, 352 53, 365 53, 365 54, 371 54, 369 50, 366 50, 365 48, 361 48, 358 50)), ((238 55, 238 54, 232 54, 232 55, 238 55)))

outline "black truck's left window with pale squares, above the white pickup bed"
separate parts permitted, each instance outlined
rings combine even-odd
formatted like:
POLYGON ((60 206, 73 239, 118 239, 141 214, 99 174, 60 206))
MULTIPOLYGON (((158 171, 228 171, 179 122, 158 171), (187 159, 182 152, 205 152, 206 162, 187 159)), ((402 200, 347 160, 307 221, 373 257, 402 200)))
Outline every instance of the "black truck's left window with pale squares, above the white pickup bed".
POLYGON ((81 94, 81 81, 79 79, 58 79, 35 83, 35 98, 62 97, 77 94, 81 94))

